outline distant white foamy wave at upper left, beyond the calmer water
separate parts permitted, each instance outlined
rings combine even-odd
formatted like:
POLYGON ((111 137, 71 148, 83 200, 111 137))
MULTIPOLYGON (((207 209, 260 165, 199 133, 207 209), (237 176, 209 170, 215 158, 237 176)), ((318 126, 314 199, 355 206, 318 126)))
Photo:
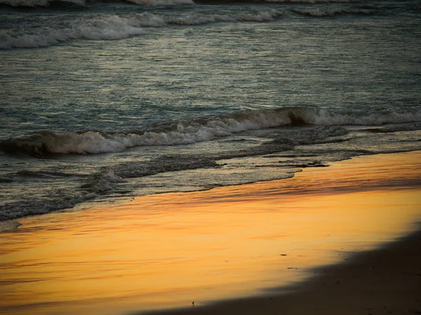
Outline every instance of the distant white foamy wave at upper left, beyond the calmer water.
POLYGON ((82 18, 69 22, 65 27, 59 24, 55 25, 52 22, 48 27, 36 29, 2 29, 0 30, 0 49, 47 47, 75 39, 116 40, 145 34, 146 31, 143 27, 206 25, 215 22, 265 22, 274 20, 280 15, 281 12, 278 10, 265 10, 255 14, 239 15, 190 15, 186 18, 154 15, 152 13, 133 14, 127 17, 98 15, 95 18, 82 18))

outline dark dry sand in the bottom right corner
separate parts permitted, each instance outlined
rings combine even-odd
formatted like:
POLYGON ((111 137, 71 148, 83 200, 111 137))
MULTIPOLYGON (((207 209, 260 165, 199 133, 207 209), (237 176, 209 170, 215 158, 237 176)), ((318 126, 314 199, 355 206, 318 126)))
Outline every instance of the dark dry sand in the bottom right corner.
POLYGON ((421 230, 265 297, 152 314, 421 314, 421 230))

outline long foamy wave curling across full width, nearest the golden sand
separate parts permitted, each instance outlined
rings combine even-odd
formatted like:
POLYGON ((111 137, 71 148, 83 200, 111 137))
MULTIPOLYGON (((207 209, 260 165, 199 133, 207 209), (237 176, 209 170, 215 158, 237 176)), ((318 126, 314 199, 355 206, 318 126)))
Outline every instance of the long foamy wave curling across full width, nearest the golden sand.
POLYGON ((69 132, 56 134, 39 131, 22 137, 0 141, 0 148, 8 153, 20 152, 34 156, 51 153, 107 153, 123 151, 134 146, 172 146, 210 141, 247 130, 282 125, 382 125, 421 121, 421 111, 406 113, 330 113, 307 108, 255 110, 216 116, 207 120, 171 124, 158 130, 131 132, 69 132))

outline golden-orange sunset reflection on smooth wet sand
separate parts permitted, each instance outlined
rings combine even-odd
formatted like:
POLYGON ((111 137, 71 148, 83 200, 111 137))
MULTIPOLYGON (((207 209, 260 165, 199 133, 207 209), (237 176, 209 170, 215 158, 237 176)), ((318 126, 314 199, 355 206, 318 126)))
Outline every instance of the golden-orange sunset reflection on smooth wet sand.
POLYGON ((127 314, 260 294, 415 228, 421 152, 139 197, 0 234, 0 312, 127 314))

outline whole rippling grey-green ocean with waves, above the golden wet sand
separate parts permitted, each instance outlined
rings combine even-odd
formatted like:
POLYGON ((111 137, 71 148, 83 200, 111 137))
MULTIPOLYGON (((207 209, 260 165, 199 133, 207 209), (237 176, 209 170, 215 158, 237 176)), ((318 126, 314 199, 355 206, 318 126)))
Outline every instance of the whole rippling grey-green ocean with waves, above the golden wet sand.
POLYGON ((0 8, 0 221, 421 150, 417 0, 0 8))

